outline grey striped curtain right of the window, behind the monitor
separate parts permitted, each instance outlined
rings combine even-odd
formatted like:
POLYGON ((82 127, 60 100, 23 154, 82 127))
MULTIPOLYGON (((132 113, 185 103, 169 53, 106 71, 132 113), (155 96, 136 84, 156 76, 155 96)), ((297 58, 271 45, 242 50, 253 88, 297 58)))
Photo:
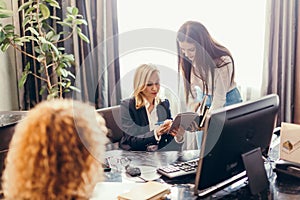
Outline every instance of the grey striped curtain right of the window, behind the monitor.
POLYGON ((279 95, 277 125, 281 122, 293 122, 295 117, 297 5, 297 0, 267 1, 266 46, 261 91, 262 95, 271 93, 279 95))

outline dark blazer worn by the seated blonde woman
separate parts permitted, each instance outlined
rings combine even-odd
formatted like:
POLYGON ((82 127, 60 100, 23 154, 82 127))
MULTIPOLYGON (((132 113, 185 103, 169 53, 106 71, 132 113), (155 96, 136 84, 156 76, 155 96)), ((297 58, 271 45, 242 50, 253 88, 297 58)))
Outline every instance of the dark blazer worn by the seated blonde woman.
MULTIPOLYGON (((157 105, 157 116, 158 121, 172 119, 170 103, 167 99, 157 105)), ((146 107, 136 109, 135 98, 121 102, 121 120, 123 130, 123 137, 119 143, 121 149, 146 151, 147 146, 158 145, 160 150, 180 150, 181 145, 177 144, 170 134, 163 134, 160 141, 156 141, 154 131, 150 131, 149 128, 146 107)))

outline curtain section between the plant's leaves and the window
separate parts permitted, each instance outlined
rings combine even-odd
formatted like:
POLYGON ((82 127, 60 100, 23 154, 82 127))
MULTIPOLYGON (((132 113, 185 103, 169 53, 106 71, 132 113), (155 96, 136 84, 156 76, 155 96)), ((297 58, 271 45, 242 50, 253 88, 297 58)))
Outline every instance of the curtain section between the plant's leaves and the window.
POLYGON ((73 93, 73 98, 91 102, 96 108, 118 105, 121 87, 117 0, 73 0, 70 4, 75 4, 87 20, 88 26, 82 32, 90 39, 87 44, 73 37, 72 43, 65 44, 73 49, 76 63, 81 63, 76 66, 75 81, 81 93, 73 93))

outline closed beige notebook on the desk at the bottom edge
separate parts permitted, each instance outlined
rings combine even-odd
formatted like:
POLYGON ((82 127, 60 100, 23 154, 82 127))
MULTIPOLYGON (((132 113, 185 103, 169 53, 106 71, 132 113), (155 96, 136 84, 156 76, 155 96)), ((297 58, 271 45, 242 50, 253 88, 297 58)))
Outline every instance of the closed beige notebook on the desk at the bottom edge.
POLYGON ((171 192, 170 185, 155 181, 143 183, 130 191, 118 195, 118 200, 132 200, 145 199, 156 200, 163 199, 163 197, 171 192))

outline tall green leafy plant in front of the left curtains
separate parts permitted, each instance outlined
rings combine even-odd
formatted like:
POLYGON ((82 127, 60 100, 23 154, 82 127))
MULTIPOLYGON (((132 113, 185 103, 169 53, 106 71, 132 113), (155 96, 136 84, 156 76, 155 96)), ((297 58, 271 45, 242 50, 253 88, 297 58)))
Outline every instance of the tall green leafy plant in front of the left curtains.
MULTIPOLYGON (((53 15, 53 10, 61 9, 56 0, 29 0, 20 5, 18 11, 22 17, 21 28, 25 35, 15 33, 11 23, 0 23, 0 48, 5 52, 9 47, 21 52, 31 62, 27 62, 19 87, 24 86, 28 76, 34 76, 41 82, 40 95, 46 92, 47 99, 63 98, 63 93, 71 90, 79 91, 72 85, 75 79, 72 67, 75 66, 74 55, 66 53, 63 42, 77 34, 83 41, 89 39, 82 33, 80 26, 87 25, 76 7, 67 7, 66 16, 60 19, 53 15), (57 26, 51 26, 55 21, 57 26), (59 31, 60 30, 60 31, 59 31), (26 44, 34 44, 32 52, 25 51, 26 44), (36 62, 39 70, 34 72, 31 63, 36 62)), ((0 18, 11 17, 12 11, 7 10, 5 2, 0 0, 0 18)))

